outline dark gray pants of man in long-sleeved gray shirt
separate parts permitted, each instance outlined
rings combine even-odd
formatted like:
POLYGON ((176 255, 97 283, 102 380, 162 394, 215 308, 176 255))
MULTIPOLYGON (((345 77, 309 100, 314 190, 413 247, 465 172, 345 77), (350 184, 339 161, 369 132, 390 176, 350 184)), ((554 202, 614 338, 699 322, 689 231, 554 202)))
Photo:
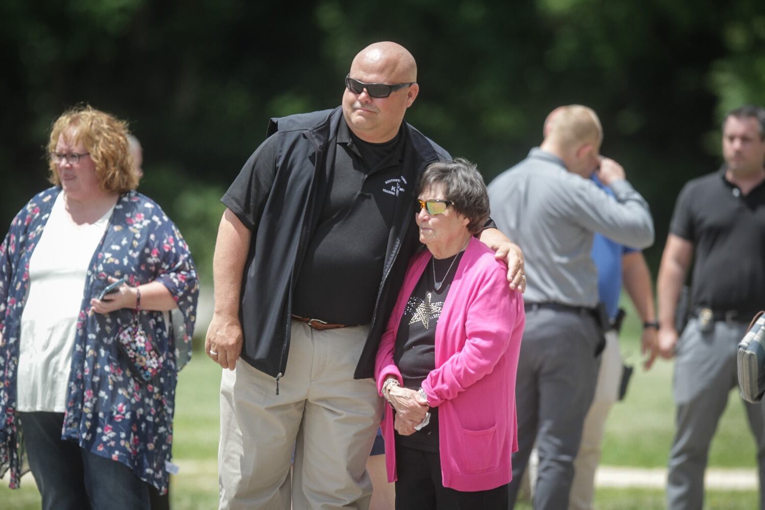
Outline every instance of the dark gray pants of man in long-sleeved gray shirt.
POLYGON ((568 508, 584 417, 595 391, 601 333, 589 313, 526 311, 516 379, 518 447, 510 508, 515 505, 534 441, 539 452, 534 508, 568 508))

